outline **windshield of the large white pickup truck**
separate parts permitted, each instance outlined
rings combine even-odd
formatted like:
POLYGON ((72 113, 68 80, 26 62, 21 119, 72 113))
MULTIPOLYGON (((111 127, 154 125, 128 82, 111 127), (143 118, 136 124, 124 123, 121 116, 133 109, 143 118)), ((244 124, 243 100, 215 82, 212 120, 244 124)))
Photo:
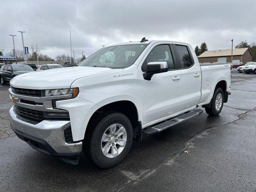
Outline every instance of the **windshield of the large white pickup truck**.
POLYGON ((102 48, 78 66, 127 68, 134 64, 148 44, 118 45, 102 48))

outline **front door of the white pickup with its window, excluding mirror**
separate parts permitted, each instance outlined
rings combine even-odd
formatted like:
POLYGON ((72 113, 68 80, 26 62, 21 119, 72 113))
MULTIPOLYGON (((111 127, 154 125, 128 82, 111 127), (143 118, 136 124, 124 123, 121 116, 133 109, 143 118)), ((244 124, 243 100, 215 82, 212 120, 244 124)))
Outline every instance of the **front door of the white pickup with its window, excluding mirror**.
POLYGON ((182 102, 182 74, 176 70, 173 54, 168 44, 158 45, 147 56, 148 62, 166 61, 168 72, 154 74, 151 80, 142 80, 143 126, 157 123, 180 112, 182 102))

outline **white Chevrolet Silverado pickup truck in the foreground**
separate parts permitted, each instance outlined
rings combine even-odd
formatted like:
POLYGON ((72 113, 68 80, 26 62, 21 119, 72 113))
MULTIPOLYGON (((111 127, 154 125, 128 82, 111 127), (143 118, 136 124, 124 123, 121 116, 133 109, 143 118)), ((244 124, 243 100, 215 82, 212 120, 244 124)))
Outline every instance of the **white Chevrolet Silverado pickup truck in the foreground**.
POLYGON ((133 139, 192 118, 199 106, 218 115, 230 78, 230 65, 200 66, 189 44, 143 38, 102 48, 78 67, 16 76, 10 123, 38 151, 77 164, 83 150, 108 168, 133 139))

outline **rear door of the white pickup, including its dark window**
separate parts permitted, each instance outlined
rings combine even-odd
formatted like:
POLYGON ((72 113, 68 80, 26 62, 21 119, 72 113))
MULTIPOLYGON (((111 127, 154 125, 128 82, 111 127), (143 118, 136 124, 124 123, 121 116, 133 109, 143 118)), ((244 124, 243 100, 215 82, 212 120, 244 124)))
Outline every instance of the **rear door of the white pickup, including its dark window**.
POLYGON ((175 44, 174 50, 182 73, 181 110, 195 107, 201 98, 201 68, 194 60, 190 46, 175 44))

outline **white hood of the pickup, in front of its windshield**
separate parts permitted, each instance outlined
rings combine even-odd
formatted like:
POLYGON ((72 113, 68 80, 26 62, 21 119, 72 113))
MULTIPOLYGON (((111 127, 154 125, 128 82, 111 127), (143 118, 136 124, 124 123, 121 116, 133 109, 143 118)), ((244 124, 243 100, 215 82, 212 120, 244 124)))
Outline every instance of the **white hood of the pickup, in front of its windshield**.
POLYGON ((27 89, 68 88, 78 78, 119 70, 123 69, 84 66, 49 69, 18 75, 12 78, 10 85, 27 89))

